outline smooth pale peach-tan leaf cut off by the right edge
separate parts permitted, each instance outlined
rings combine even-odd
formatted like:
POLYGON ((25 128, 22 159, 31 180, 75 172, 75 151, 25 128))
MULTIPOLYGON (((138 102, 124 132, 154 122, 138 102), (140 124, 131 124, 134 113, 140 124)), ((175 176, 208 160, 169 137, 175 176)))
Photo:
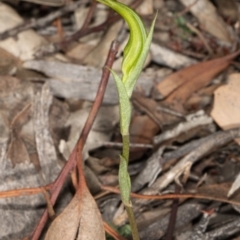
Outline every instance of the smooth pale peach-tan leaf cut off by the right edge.
MULTIPOLYGON (((227 85, 214 92, 212 118, 224 130, 240 127, 240 74, 229 76, 227 85)), ((240 144, 240 139, 237 139, 240 144)))

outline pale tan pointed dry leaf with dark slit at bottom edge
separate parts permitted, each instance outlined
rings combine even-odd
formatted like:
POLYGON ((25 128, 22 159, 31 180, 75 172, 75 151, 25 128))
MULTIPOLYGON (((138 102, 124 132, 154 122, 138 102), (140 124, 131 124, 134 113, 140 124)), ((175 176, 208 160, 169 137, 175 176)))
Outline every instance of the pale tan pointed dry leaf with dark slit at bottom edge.
POLYGON ((96 202, 86 187, 78 190, 53 221, 45 240, 104 240, 105 231, 96 202))

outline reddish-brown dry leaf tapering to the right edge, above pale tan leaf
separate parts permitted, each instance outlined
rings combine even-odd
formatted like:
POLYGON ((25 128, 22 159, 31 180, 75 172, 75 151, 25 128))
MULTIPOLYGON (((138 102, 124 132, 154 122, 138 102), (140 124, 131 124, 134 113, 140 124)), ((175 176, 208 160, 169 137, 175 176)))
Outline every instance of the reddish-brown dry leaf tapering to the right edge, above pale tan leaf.
POLYGON ((227 68, 230 61, 239 52, 237 51, 222 58, 197 63, 175 72, 160 82, 157 89, 164 97, 168 96, 167 102, 177 101, 184 103, 193 92, 207 85, 214 76, 227 68))

